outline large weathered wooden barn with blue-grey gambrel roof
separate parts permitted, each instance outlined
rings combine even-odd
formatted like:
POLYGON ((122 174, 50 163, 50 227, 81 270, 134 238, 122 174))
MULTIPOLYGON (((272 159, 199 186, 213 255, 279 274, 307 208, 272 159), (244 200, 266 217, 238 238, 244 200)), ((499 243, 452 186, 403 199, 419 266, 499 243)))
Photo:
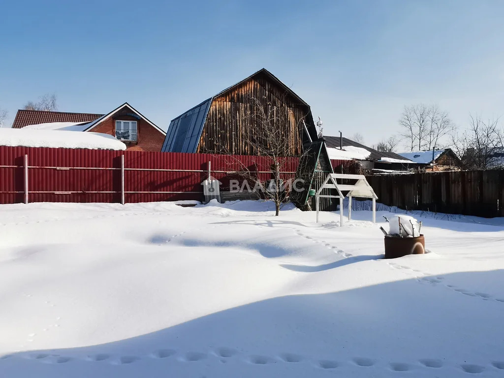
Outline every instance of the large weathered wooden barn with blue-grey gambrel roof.
POLYGON ((303 144, 317 139, 309 105, 271 72, 262 69, 174 118, 161 151, 261 155, 258 104, 278 123, 285 155, 300 156, 303 144), (310 137, 308 137, 308 135, 310 137))

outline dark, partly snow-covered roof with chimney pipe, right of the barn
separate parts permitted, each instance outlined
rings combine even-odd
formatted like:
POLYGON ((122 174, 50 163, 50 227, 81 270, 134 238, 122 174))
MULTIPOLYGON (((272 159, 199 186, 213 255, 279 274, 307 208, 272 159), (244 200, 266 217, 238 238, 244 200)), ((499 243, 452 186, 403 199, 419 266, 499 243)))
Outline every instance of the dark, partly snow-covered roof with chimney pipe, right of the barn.
POLYGON ((382 152, 377 151, 371 147, 364 146, 363 144, 352 141, 348 138, 343 138, 343 151, 340 150, 340 137, 326 137, 326 145, 329 150, 329 155, 333 154, 335 157, 331 159, 340 160, 369 160, 384 163, 411 163, 411 161, 395 152, 382 152), (333 151, 337 150, 337 151, 333 151))

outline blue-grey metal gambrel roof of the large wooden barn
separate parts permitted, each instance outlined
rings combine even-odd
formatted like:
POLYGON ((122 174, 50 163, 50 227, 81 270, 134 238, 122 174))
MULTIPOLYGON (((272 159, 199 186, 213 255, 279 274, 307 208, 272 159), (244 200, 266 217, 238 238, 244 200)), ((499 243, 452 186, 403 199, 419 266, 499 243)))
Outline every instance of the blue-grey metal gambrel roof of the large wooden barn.
MULTIPOLYGON (((309 105, 304 102, 297 94, 295 94, 292 89, 282 83, 271 72, 263 68, 248 76, 247 78, 240 80, 236 84, 233 84, 232 86, 217 93, 216 95, 210 97, 209 99, 203 101, 202 103, 196 105, 195 107, 192 107, 191 109, 185 111, 178 117, 173 118, 168 127, 167 136, 165 138, 161 151, 195 153, 198 149, 198 143, 200 141, 201 134, 203 133, 205 121, 207 119, 208 111, 213 99, 224 95, 226 92, 231 91, 233 88, 245 83, 246 81, 254 78, 259 74, 267 76, 272 82, 282 87, 286 93, 288 93, 294 99, 299 101, 300 104, 306 106, 309 109, 309 105)), ((311 117, 311 110, 309 112, 309 116, 311 117)), ((312 139, 317 136, 315 132, 313 133, 314 134, 311 135, 312 139)))

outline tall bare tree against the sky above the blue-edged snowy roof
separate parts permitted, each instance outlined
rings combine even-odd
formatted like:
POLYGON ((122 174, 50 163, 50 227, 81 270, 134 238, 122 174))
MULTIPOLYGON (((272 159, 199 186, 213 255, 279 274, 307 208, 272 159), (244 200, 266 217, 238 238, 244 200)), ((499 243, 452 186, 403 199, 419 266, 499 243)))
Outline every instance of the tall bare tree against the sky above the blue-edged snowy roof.
POLYGON ((448 113, 438 105, 411 105, 404 107, 399 124, 401 136, 413 151, 436 148, 440 141, 453 130, 454 125, 448 113))

